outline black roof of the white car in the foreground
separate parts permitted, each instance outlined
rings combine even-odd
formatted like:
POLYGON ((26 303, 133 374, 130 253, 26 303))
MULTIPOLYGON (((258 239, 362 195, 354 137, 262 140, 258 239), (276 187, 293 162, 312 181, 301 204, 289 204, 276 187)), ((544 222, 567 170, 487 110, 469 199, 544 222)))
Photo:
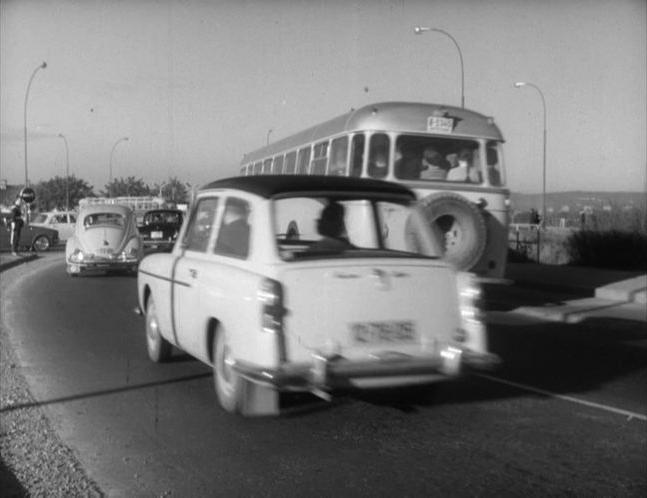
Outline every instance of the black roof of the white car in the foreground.
POLYGON ((366 178, 317 175, 259 175, 236 176, 204 185, 200 190, 237 189, 270 198, 291 192, 367 192, 415 198, 403 185, 366 178))

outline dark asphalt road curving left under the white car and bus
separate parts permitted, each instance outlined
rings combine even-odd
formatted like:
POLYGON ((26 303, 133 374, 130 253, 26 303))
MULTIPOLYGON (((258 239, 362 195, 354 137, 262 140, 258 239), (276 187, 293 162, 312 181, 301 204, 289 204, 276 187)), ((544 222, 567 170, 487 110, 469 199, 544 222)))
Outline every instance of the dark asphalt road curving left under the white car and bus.
POLYGON ((32 264, 4 318, 35 398, 109 494, 647 494, 647 332, 630 314, 547 323, 509 312, 545 293, 498 288, 493 377, 291 397, 281 418, 241 419, 217 406, 204 365, 147 360, 132 277, 32 264))

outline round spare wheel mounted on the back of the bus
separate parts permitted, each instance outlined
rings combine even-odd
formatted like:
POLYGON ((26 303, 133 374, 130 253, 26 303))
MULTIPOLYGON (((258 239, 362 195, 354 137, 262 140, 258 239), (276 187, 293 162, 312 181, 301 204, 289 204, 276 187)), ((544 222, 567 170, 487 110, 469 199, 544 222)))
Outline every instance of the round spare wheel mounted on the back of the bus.
POLYGON ((431 228, 444 236, 445 259, 459 270, 471 270, 487 244, 487 224, 479 207, 452 192, 431 194, 420 205, 431 228))

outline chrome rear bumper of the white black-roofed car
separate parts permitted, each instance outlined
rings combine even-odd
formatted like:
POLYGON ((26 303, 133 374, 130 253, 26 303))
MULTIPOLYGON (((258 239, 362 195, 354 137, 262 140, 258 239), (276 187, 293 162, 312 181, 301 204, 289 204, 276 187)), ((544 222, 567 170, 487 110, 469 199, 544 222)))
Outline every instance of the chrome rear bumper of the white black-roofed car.
POLYGON ((441 380, 469 370, 490 370, 497 355, 446 347, 428 356, 389 355, 364 361, 313 354, 310 363, 286 363, 276 369, 237 361, 234 369, 244 378, 279 390, 330 391, 353 385, 381 387, 441 380))

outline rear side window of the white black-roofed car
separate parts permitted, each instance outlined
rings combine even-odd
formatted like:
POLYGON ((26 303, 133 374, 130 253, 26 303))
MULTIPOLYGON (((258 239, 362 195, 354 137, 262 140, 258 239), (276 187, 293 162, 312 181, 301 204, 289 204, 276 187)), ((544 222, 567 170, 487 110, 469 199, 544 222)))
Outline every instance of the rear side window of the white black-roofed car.
POLYGON ((249 254, 249 203, 229 197, 225 203, 220 230, 216 239, 215 254, 247 258, 249 254))

